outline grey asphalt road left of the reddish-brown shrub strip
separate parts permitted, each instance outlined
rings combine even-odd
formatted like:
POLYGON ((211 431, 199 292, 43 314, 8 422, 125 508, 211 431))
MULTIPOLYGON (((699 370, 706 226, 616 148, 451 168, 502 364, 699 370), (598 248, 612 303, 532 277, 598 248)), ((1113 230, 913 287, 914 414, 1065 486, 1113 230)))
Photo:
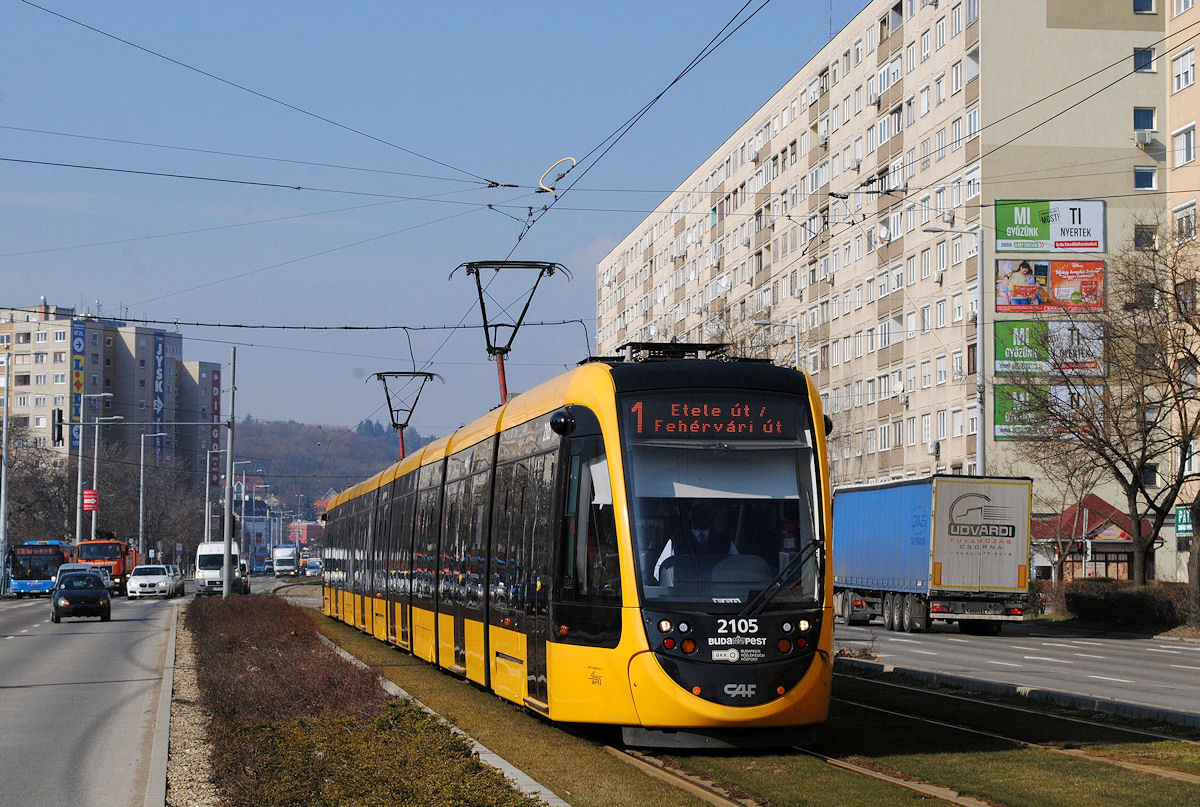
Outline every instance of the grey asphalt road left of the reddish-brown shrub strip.
POLYGON ((113 599, 113 621, 50 622, 0 600, 0 802, 127 807, 146 794, 176 604, 113 599))

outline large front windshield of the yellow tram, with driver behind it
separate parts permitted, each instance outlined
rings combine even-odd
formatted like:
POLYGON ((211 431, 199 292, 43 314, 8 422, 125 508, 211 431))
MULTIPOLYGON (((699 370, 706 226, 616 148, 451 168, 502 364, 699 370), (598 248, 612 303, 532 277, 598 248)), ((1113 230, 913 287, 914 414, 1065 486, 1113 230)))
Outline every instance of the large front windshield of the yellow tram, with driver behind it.
POLYGON ((763 591, 768 608, 818 599, 816 473, 802 436, 638 440, 630 431, 630 520, 646 606, 737 612, 763 591))

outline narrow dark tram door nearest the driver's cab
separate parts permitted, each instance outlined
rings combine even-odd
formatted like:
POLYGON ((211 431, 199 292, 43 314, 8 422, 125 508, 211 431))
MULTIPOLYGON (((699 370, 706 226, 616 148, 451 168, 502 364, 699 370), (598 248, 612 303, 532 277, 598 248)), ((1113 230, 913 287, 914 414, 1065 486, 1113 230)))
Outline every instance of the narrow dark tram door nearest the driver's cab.
POLYGON ((526 636, 529 698, 547 703, 546 642, 553 626, 550 620, 550 597, 553 591, 551 546, 553 545, 553 510, 556 453, 529 458, 532 508, 526 524, 530 527, 528 540, 528 582, 526 585, 526 636))

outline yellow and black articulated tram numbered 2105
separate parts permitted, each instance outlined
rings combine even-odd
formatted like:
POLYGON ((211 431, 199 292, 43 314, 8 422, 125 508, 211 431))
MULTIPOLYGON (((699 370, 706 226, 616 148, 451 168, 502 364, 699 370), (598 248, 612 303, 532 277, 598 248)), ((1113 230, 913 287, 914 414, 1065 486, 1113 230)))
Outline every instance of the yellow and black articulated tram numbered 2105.
POLYGON ((324 610, 629 745, 810 741, 827 423, 794 370, 592 359, 340 494, 324 610))

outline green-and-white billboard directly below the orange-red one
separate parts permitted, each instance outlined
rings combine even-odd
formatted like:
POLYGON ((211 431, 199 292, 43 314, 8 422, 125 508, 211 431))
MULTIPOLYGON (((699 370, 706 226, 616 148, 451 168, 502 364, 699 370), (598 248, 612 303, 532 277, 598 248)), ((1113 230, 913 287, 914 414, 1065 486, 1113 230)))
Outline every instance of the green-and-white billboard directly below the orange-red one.
POLYGON ((994 333, 996 375, 1106 375, 1099 323, 1004 319, 994 333))

